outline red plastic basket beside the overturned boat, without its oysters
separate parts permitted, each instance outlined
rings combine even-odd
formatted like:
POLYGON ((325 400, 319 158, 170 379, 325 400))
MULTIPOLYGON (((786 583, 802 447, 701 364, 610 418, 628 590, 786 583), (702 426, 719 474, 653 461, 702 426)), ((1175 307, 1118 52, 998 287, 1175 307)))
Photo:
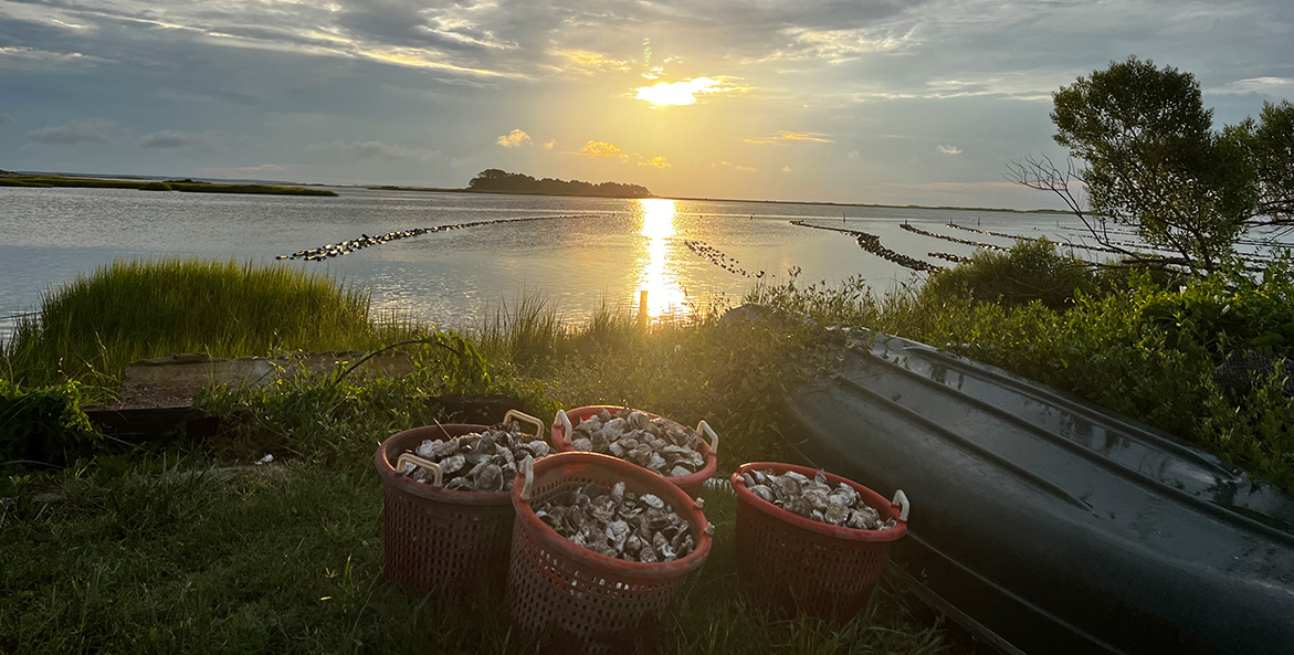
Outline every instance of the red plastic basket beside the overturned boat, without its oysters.
POLYGON ((907 496, 894 502, 839 475, 827 474, 835 487, 849 484, 881 520, 898 519, 890 529, 853 529, 819 523, 767 502, 747 489, 741 474, 752 470, 813 478, 815 469, 789 463, 752 462, 732 474, 736 492, 736 563, 752 603, 775 615, 796 610, 844 624, 867 606, 890 544, 907 533, 907 496))

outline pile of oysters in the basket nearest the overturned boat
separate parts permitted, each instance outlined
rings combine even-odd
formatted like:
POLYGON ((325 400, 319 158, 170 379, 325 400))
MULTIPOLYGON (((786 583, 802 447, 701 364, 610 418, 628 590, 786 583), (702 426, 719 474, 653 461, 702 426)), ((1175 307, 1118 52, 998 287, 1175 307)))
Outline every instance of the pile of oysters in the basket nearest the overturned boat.
POLYGON ((741 482, 761 500, 819 523, 854 529, 890 529, 898 524, 893 518, 881 520, 853 487, 840 483, 833 488, 823 471, 813 479, 796 471, 747 471, 741 482))

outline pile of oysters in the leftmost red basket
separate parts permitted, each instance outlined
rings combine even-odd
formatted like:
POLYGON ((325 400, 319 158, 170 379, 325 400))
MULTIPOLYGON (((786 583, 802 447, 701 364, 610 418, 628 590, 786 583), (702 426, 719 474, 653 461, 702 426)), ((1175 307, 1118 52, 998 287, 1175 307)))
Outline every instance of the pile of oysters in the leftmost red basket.
MULTIPOLYGON (((428 439, 414 449, 418 457, 440 465, 444 488, 468 492, 510 491, 521 461, 549 453, 547 443, 523 434, 516 426, 494 426, 448 441, 428 439)), ((410 462, 405 462, 401 472, 421 483, 435 484, 436 480, 432 471, 410 462)))

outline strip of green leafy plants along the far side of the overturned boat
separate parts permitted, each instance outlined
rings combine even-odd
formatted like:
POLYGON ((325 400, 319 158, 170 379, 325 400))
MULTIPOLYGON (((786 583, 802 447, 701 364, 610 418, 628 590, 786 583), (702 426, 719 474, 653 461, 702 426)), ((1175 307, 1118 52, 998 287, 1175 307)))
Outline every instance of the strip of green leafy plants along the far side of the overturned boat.
POLYGON ((839 289, 757 289, 753 299, 818 324, 871 328, 1069 391, 1197 443, 1284 487, 1294 487, 1294 397, 1281 357, 1294 356, 1294 282, 1271 267, 1262 280, 1222 271, 1162 286, 1128 273, 1071 304, 1007 307, 945 285, 875 298, 862 282, 839 289), (1222 374, 1238 353, 1275 361, 1222 374))

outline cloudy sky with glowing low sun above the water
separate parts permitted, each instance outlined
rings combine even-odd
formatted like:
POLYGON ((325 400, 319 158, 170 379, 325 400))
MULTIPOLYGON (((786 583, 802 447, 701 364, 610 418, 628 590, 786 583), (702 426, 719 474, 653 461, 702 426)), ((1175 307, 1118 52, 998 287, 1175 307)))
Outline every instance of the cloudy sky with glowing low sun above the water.
POLYGON ((1051 92, 1128 54, 1294 100, 1290 0, 0 0, 0 168, 1044 207, 1051 92))

